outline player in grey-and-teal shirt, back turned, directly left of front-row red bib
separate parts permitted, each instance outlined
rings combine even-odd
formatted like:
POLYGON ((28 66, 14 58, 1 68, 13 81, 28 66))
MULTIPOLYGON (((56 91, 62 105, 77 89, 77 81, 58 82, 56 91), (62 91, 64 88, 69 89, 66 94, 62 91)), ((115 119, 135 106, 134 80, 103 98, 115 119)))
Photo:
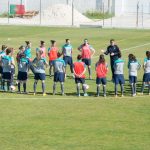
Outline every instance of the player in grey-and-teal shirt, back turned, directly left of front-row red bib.
POLYGON ((61 94, 64 95, 64 79, 65 79, 65 62, 61 58, 61 54, 57 53, 57 59, 53 61, 54 67, 54 84, 53 84, 53 95, 56 94, 56 84, 60 82, 61 94))

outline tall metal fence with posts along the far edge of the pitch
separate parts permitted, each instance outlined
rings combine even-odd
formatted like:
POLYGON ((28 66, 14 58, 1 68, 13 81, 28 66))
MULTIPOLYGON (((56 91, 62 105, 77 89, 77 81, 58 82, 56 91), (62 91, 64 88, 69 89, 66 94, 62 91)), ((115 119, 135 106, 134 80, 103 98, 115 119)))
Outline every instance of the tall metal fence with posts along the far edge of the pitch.
POLYGON ((1 0, 0 24, 150 28, 150 0, 1 0), (18 5, 25 13, 11 14, 18 5))

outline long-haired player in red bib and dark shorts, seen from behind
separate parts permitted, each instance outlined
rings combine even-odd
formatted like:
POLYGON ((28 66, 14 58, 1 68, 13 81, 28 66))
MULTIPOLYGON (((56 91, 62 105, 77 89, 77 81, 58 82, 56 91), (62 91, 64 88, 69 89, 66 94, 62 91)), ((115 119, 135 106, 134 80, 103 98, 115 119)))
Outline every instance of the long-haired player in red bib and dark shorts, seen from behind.
POLYGON ((103 95, 106 97, 106 76, 108 72, 108 64, 105 62, 104 55, 99 56, 99 61, 95 65, 96 69, 96 84, 97 84, 97 97, 100 95, 100 84, 103 85, 103 95))

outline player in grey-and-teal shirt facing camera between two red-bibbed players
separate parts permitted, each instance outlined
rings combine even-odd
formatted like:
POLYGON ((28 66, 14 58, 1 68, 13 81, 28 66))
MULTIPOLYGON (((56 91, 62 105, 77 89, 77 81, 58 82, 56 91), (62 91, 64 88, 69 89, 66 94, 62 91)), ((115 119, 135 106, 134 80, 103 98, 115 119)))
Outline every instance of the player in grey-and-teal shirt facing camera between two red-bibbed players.
MULTIPOLYGON (((70 71, 73 74, 72 50, 73 50, 73 47, 70 43, 70 40, 66 39, 66 44, 63 45, 62 47, 63 60, 65 61, 66 67, 67 65, 70 66, 70 71)), ((66 69, 65 69, 65 75, 66 75, 66 69)), ((74 77, 74 74, 73 74, 73 77, 74 77)))

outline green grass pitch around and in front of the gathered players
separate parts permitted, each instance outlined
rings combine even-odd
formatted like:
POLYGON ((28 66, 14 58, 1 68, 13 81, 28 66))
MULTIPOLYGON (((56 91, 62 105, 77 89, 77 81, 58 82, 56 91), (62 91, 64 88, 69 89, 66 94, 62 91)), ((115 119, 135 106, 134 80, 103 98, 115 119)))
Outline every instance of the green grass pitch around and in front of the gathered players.
MULTIPOLYGON (((70 38, 74 47, 74 60, 77 47, 84 38, 96 49, 106 48, 109 39, 115 38, 121 49, 149 43, 150 30, 127 29, 78 29, 0 26, 0 45, 6 44, 16 49, 25 40, 32 41, 32 54, 40 40, 55 39, 58 46, 64 39, 70 38)), ((134 53, 142 63, 145 51, 150 45, 123 51, 125 59, 125 78, 128 80, 127 56, 134 53)), ((109 62, 109 56, 106 57, 109 62)), ((87 98, 75 96, 74 80, 67 78, 65 92, 67 96, 52 96, 53 80, 47 77, 48 95, 33 96, 15 93, 0 93, 0 150, 149 150, 150 149, 150 100, 144 96, 132 98, 128 81, 125 85, 125 97, 114 98, 113 84, 108 82, 107 98, 94 97, 96 91, 94 64, 92 60, 93 80, 87 98)), ((48 73, 48 70, 47 70, 48 73)), ((68 70, 69 74, 69 70, 68 70)), ((138 74, 140 91, 143 70, 138 74)), ((108 80, 111 78, 109 72, 108 80)), ((33 92, 33 75, 30 73, 28 91, 33 92)), ((58 92, 60 85, 58 84, 58 92)), ((41 91, 40 82, 38 92, 41 91)))

